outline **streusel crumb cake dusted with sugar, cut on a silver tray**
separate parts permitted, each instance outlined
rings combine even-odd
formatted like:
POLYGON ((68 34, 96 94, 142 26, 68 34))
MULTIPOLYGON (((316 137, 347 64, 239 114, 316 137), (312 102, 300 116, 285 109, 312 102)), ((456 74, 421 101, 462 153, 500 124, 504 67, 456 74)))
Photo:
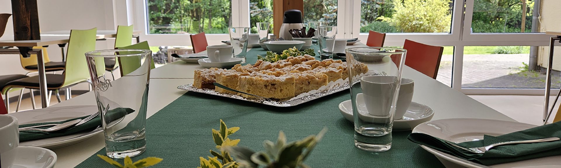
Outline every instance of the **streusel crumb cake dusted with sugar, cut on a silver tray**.
MULTIPOLYGON (((353 74, 366 73, 368 67, 353 65, 353 74)), ((195 71, 193 87, 214 89, 219 93, 235 93, 219 87, 214 82, 241 92, 265 98, 290 99, 299 94, 316 90, 330 81, 348 78, 347 63, 341 60, 315 60, 313 56, 289 56, 275 63, 257 60, 254 65, 235 65, 231 70, 210 68, 195 71)))

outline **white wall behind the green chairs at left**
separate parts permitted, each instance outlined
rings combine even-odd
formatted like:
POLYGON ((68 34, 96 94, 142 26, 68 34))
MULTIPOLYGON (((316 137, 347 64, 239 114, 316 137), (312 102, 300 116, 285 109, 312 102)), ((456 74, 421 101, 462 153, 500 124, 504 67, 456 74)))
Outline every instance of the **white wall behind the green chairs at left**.
MULTIPOLYGON (((37 1, 39 11, 39 26, 42 32, 56 30, 89 29, 97 27, 98 30, 115 30, 117 21, 114 19, 119 12, 114 12, 113 7, 119 0, 48 0, 37 1)), ((0 0, 0 13, 12 13, 11 0, 0 0)), ((126 18, 127 16, 125 16, 126 18)), ((122 18, 122 17, 121 17, 122 18)), ((119 23, 121 23, 119 21, 119 23)), ((12 17, 8 21, 6 32, 0 40, 13 39, 12 17)), ((96 42, 96 49, 111 49, 114 40, 96 42)), ((65 49, 66 50, 66 49, 65 49)), ((51 61, 61 61, 61 49, 57 45, 47 48, 51 61)), ((19 55, 0 55, 0 75, 25 74, 21 68, 19 55)), ((88 85, 81 84, 73 90, 87 90, 88 85)), ((11 94, 15 96, 16 94, 11 94)))

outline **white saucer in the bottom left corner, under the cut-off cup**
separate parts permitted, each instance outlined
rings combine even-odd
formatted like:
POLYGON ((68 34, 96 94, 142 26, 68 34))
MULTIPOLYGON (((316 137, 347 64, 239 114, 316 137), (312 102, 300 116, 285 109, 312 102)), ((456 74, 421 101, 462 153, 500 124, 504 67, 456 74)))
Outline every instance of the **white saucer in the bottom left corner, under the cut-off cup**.
POLYGON ((12 168, 52 168, 57 154, 42 147, 18 146, 12 168))

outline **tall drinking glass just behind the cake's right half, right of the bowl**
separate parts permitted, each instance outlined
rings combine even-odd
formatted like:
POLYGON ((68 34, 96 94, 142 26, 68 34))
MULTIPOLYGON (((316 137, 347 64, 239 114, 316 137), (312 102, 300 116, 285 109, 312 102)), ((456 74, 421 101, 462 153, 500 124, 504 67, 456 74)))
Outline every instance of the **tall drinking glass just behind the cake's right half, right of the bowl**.
POLYGON ((318 31, 320 58, 322 60, 332 58, 335 35, 337 35, 337 26, 320 26, 318 27, 318 31), (328 45, 330 45, 330 47, 328 47, 328 45))

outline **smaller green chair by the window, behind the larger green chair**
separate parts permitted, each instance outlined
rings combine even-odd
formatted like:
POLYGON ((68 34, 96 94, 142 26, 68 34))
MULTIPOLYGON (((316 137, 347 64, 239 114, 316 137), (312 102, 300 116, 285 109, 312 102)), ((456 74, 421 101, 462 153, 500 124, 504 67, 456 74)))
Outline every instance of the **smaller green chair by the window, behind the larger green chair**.
MULTIPOLYGON (((115 37, 115 46, 114 46, 115 49, 117 49, 117 47, 130 46, 132 44, 131 42, 132 30, 133 30, 133 25, 117 26, 117 37, 115 37)), ((111 72, 111 76, 113 77, 113 80, 115 80, 113 71, 116 70, 118 67, 119 67, 119 63, 117 63, 117 61, 115 61, 114 58, 108 58, 108 57, 105 58, 105 70, 111 72)))

